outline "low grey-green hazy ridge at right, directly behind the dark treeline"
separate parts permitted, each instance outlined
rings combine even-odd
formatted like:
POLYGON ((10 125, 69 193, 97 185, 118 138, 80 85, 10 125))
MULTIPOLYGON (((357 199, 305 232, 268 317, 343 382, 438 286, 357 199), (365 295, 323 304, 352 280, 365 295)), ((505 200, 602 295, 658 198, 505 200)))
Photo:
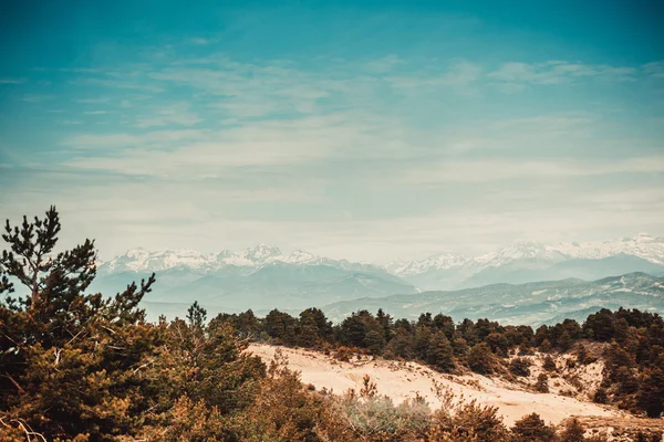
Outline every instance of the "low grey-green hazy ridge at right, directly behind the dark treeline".
POLYGON ((457 320, 487 317, 506 324, 537 325, 621 306, 664 312, 664 278, 631 273, 594 282, 570 278, 520 285, 492 284, 460 291, 345 301, 322 309, 333 320, 361 308, 373 312, 383 308, 395 317, 416 318, 423 312, 430 312, 444 313, 457 320))

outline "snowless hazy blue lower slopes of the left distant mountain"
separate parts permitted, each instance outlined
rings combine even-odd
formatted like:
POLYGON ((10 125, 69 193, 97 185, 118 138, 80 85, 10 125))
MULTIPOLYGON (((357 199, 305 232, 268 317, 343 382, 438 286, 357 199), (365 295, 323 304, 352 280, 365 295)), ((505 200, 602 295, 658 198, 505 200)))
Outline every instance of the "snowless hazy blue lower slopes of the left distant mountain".
MULTIPOLYGON (((216 270, 179 265, 157 271, 157 283, 144 305, 154 319, 159 314, 181 317, 194 301, 206 307, 211 316, 218 312, 248 308, 256 312, 277 307, 301 311, 338 301, 416 292, 413 285, 383 270, 355 271, 344 269, 344 265, 281 261, 258 267, 225 265, 216 270)), ((114 294, 131 281, 147 278, 149 273, 100 272, 91 291, 114 294)))

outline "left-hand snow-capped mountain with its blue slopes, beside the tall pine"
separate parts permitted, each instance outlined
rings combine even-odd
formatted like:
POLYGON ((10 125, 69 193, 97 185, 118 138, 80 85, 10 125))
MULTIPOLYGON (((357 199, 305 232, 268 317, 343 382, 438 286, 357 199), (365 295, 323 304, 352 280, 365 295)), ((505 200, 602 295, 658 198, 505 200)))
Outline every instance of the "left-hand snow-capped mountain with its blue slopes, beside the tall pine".
POLYGON ((284 255, 268 244, 219 253, 133 249, 98 265, 91 291, 114 294, 124 290, 127 281, 145 278, 152 272, 157 273, 157 284, 144 301, 153 318, 166 313, 184 316, 194 301, 212 314, 304 309, 335 301, 417 292, 413 284, 376 265, 301 250, 284 255))

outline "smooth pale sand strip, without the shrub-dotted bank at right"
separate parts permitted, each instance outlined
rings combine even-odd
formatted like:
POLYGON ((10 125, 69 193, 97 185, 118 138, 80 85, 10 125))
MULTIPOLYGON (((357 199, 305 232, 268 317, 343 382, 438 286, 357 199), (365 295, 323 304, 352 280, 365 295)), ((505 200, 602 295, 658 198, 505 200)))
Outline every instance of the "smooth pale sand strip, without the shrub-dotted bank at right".
POLYGON ((362 378, 369 375, 377 385, 378 392, 391 397, 395 402, 419 393, 434 409, 440 403, 432 391, 433 381, 436 380, 450 388, 457 397, 463 396, 467 400, 476 399, 479 403, 497 407, 508 425, 532 412, 550 423, 559 423, 572 415, 621 417, 618 411, 590 401, 554 393, 526 391, 523 387, 498 378, 479 375, 443 375, 415 362, 386 360, 340 362, 320 352, 268 345, 251 345, 248 351, 260 356, 267 362, 274 357, 277 348, 281 348, 283 355, 288 357, 289 367, 301 372, 304 383, 312 383, 319 390, 324 387, 334 393, 342 393, 349 388, 360 390, 362 378))

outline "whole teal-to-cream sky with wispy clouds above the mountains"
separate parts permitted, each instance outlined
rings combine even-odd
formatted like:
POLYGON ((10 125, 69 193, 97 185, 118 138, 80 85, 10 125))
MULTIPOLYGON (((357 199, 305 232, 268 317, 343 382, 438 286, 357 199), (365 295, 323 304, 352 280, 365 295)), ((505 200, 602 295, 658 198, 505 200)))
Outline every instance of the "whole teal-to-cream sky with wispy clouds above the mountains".
POLYGON ((102 259, 664 235, 663 4, 6 1, 0 218, 102 259))

